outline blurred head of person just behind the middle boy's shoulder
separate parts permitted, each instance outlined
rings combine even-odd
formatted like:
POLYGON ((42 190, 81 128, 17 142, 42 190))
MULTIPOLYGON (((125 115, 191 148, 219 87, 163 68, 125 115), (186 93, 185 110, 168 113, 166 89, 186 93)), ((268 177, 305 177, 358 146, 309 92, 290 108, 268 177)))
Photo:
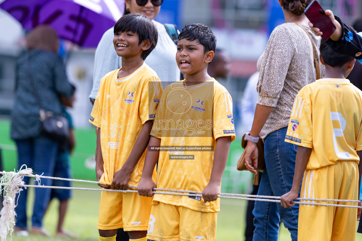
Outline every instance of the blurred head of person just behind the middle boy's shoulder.
POLYGON ((207 73, 212 78, 227 78, 229 72, 230 57, 228 52, 222 49, 216 49, 214 59, 212 59, 209 67, 207 68, 207 73))

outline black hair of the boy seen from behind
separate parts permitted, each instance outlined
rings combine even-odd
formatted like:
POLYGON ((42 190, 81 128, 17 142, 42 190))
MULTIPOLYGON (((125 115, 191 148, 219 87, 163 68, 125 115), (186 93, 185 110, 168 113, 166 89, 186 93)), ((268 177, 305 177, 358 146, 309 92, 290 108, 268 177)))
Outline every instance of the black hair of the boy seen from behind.
POLYGON ((339 53, 333 51, 332 48, 329 47, 329 45, 323 40, 320 43, 319 50, 324 64, 328 64, 332 67, 342 67, 353 59, 352 57, 340 55, 339 53))

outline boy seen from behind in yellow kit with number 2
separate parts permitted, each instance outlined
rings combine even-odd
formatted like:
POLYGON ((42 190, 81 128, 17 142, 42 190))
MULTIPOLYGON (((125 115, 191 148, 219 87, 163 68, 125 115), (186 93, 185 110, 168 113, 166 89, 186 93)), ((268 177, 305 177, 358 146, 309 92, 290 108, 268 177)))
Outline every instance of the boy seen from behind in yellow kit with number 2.
MULTIPOLYGON (((281 197, 285 208, 294 206, 290 202, 298 196, 302 178, 302 198, 359 198, 362 92, 346 79, 355 60, 334 52, 324 41, 320 45, 320 56, 325 65, 325 78, 299 91, 285 137, 286 142, 299 146, 292 189, 281 197)), ((355 240, 356 208, 313 205, 319 201, 302 202, 298 241, 355 240)))

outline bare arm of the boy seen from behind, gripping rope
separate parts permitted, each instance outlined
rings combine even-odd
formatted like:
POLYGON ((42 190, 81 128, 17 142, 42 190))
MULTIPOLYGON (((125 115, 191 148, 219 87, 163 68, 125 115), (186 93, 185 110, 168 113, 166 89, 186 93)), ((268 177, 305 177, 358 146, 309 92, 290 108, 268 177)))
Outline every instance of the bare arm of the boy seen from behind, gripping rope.
POLYGON ((312 149, 308 147, 298 146, 295 158, 295 171, 293 178, 292 190, 282 195, 280 205, 287 208, 292 207, 295 203, 290 203, 298 197, 300 183, 302 182, 304 171, 308 164, 309 157, 311 156, 312 149))

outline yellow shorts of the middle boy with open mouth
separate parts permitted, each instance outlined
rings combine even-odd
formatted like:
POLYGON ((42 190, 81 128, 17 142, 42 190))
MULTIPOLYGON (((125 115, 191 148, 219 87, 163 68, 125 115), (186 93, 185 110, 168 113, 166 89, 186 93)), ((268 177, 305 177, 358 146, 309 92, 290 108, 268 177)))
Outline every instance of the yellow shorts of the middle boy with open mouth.
POLYGON ((152 205, 147 238, 153 241, 215 241, 217 212, 159 202, 152 205))

